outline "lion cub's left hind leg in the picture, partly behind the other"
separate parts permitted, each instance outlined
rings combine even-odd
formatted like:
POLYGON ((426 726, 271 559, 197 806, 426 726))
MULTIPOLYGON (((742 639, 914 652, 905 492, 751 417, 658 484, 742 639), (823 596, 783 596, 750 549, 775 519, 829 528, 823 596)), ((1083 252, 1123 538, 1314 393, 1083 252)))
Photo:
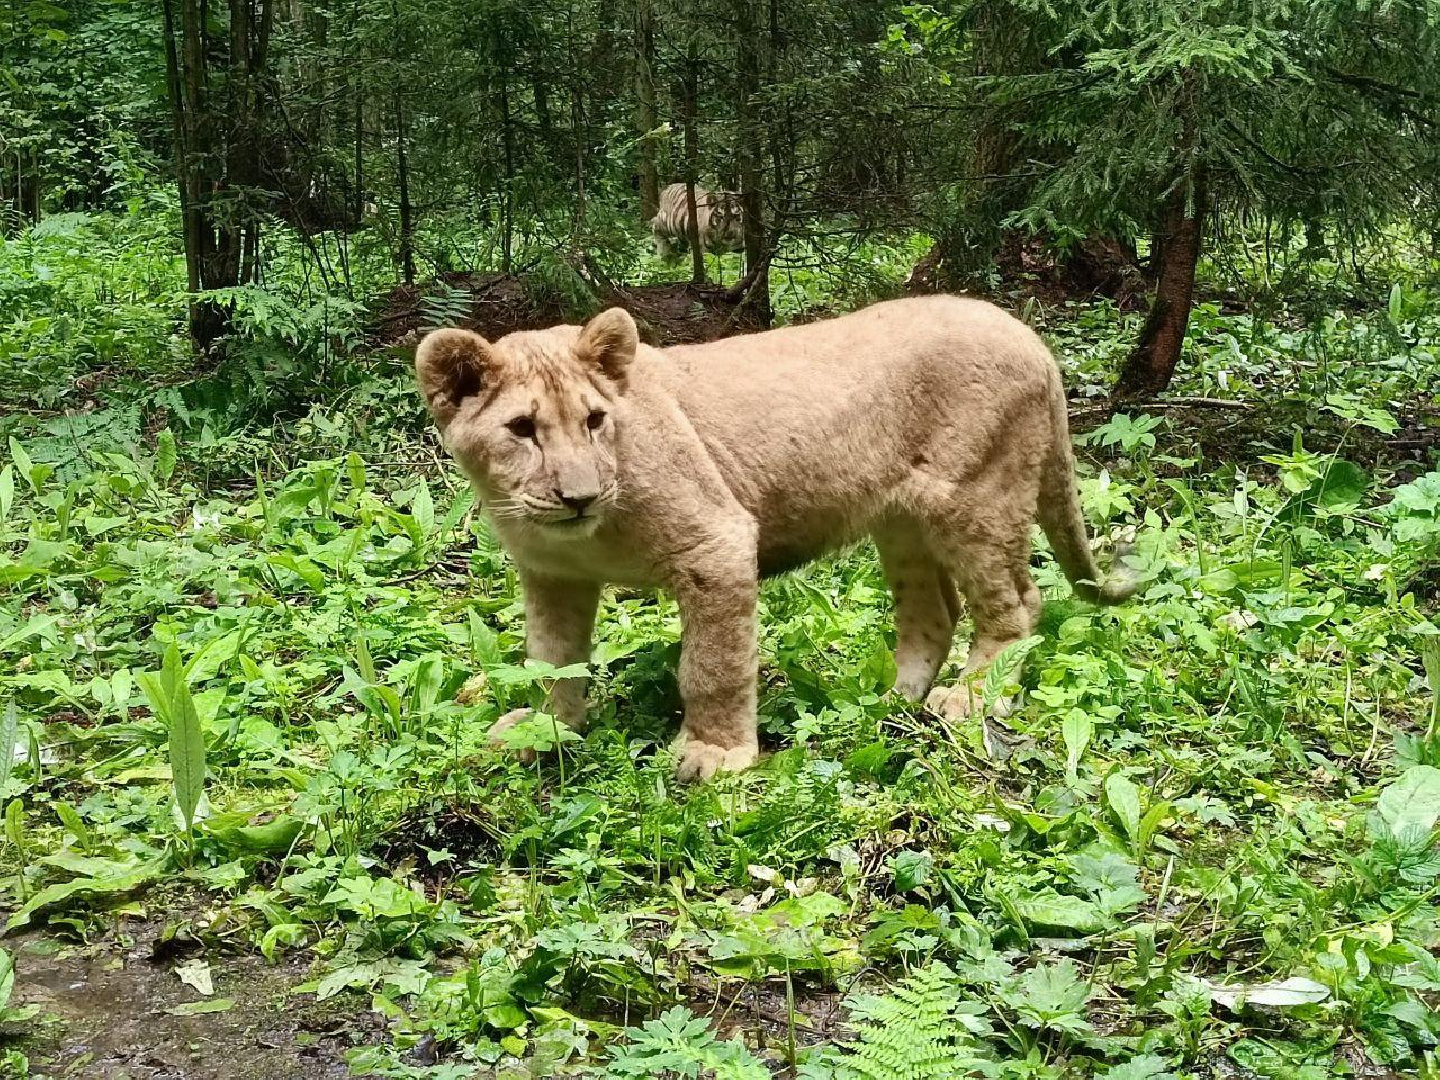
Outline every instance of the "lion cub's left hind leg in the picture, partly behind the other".
POLYGON ((896 609, 896 691, 923 701, 950 655, 960 598, 919 526, 876 531, 896 609))

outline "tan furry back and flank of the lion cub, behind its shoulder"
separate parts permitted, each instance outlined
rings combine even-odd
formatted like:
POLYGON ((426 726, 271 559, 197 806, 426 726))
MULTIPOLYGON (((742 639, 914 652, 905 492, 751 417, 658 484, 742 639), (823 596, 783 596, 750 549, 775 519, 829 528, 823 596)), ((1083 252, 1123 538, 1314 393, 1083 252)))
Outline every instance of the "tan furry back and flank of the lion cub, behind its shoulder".
POLYGON ((888 301, 665 356, 680 408, 760 523, 762 543, 799 553, 867 528, 917 461, 959 480, 998 441, 1048 446, 1060 386, 1028 327, 956 297, 888 301))

